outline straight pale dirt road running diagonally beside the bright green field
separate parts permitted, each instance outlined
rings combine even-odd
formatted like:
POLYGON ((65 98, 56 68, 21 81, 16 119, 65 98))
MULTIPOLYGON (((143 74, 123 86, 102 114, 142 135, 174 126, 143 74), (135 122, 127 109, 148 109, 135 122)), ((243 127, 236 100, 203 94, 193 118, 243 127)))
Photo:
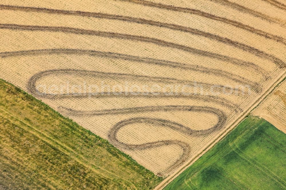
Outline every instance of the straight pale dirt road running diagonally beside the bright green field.
POLYGON ((211 149, 217 142, 222 140, 229 132, 231 132, 239 123, 241 123, 245 117, 255 109, 284 79, 286 78, 286 72, 279 75, 277 80, 245 111, 243 112, 236 120, 233 122, 224 132, 222 132, 210 145, 198 153, 194 158, 189 159, 182 167, 180 167, 174 174, 170 175, 164 179, 154 190, 164 189, 170 182, 172 182, 176 177, 178 177, 185 169, 197 161, 204 153, 211 149))

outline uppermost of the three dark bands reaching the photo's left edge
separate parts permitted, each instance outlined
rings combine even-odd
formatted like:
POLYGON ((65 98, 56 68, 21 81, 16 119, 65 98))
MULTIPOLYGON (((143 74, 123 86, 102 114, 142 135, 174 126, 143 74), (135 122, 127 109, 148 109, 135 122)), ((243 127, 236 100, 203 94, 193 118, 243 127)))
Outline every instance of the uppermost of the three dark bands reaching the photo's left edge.
MULTIPOLYGON (((93 12, 65 11, 65 10, 59 10, 59 9, 46 9, 46 8, 36 8, 36 7, 15 7, 15 6, 9 6, 9 5, 0 5, 0 8, 9 9, 9 10, 53 13, 53 14, 60 14, 60 15, 78 15, 78 16, 85 16, 85 17, 96 17, 96 18, 102 18, 102 19, 120 20, 120 21, 127 21, 127 22, 133 22, 133 23, 138 23, 138 24, 164 27, 164 28, 168 28, 171 30, 178 30, 178 31, 187 32, 187 33, 190 33, 193 35, 206 37, 208 39, 215 40, 215 41, 218 41, 218 42, 239 48, 241 50, 244 50, 246 52, 254 54, 258 57, 271 60, 272 62, 275 62, 276 64, 277 64, 277 62, 278 63, 281 62, 281 60, 277 59, 275 56, 267 54, 267 53, 265 53, 261 50, 258 50, 254 47, 250 47, 246 44, 239 43, 237 41, 233 41, 231 39, 220 37, 218 35, 207 33, 204 31, 200 31, 198 29, 192 29, 190 27, 184 27, 184 26, 175 25, 175 24, 162 23, 162 22, 146 20, 146 19, 141 19, 141 18, 135 18, 135 17, 126 17, 126 16, 120 16, 120 15, 109 15, 109 14, 93 13, 93 12)), ((285 43, 285 45, 286 45, 286 43, 285 43)))

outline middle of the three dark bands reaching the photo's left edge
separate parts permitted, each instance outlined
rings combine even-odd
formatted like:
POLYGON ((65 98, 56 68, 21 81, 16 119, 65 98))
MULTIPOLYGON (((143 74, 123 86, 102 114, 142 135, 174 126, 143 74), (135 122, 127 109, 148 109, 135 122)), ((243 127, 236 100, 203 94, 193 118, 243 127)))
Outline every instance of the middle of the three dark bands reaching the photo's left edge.
MULTIPOLYGON (((140 41, 144 43, 152 43, 163 47, 176 48, 178 50, 190 52, 192 54, 197 54, 200 56, 210 57, 213 59, 229 62, 231 64, 236 65, 247 65, 252 67, 253 69, 261 69, 259 66, 252 62, 240 60, 237 58, 232 58, 229 56, 208 52, 204 50, 199 50, 196 48, 188 47, 185 45, 180 45, 172 42, 167 42, 160 39, 143 37, 137 35, 129 35, 129 34, 121 34, 121 33, 112 33, 112 32, 104 32, 104 31, 94 31, 87 29, 79 29, 79 28, 71 28, 71 27, 53 27, 53 26, 36 26, 36 25, 16 25, 16 24, 0 24, 0 29, 12 29, 12 30, 20 30, 20 31, 43 31, 43 32, 63 32, 63 33, 73 33, 80 35, 94 35, 99 37, 107 37, 107 38, 115 38, 115 39, 126 39, 131 41, 140 41)), ((271 60, 275 63, 279 68, 284 68, 286 66, 285 62, 281 59, 276 58, 275 56, 269 55, 265 57, 265 59, 271 60)))

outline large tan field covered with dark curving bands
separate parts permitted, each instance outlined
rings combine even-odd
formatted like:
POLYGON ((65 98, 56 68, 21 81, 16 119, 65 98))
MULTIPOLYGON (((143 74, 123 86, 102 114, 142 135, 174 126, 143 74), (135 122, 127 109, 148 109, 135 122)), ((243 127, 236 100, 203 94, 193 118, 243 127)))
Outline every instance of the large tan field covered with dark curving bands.
POLYGON ((168 176, 285 74, 285 3, 255 2, 3 0, 0 74, 168 176))

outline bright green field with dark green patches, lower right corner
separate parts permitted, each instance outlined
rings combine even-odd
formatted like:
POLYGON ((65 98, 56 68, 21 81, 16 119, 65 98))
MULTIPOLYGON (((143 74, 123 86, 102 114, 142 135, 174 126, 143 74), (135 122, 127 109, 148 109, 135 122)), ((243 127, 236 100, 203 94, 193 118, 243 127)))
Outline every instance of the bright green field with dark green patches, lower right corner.
POLYGON ((250 116, 167 189, 286 189, 286 134, 250 116))

